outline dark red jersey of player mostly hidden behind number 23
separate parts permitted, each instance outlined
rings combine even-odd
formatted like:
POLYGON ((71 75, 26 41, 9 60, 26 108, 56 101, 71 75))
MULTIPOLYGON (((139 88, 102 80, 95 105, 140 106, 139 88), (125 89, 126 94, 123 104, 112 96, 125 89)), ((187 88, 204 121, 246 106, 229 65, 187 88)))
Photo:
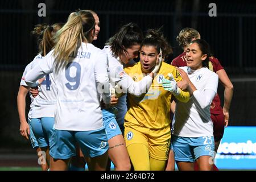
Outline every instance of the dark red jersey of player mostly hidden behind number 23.
MULTIPOLYGON (((174 60, 172 60, 171 65, 175 67, 185 67, 187 66, 186 62, 186 52, 181 53, 181 55, 177 56, 174 60)), ((216 57, 209 58, 209 69, 210 71, 217 72, 220 69, 224 69, 220 64, 220 61, 216 57)), ((221 101, 218 94, 213 98, 212 104, 210 104, 210 114, 222 114, 221 101)))

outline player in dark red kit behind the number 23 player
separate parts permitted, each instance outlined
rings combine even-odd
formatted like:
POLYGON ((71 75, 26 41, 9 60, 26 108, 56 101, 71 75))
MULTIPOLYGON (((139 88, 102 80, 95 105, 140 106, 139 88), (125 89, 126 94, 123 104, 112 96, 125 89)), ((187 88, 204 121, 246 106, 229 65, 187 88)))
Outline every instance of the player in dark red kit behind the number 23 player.
MULTIPOLYGON (((184 67, 187 65, 185 61, 185 51, 187 50, 189 43, 195 39, 200 39, 200 34, 197 30, 193 28, 183 28, 183 30, 180 31, 179 36, 177 36, 177 42, 179 42, 179 45, 183 48, 184 52, 181 53, 181 55, 177 56, 172 61, 171 65, 174 65, 176 67, 184 67)), ((229 80, 225 69, 222 67, 220 61, 218 61, 216 57, 209 57, 209 69, 217 73, 221 84, 225 87, 223 109, 221 107, 221 101, 218 94, 216 94, 210 106, 210 117, 212 118, 213 122, 214 150, 217 153, 218 146, 220 145, 221 138, 224 134, 224 127, 227 127, 229 122, 229 108, 233 97, 233 84, 229 80)), ((175 104, 172 105, 174 105, 173 107, 175 107, 175 104)), ((171 156, 170 158, 173 157, 171 156)), ((171 166, 174 167, 174 164, 171 164, 171 166)), ((167 167, 167 169, 170 168, 167 167)), ((214 165, 213 169, 217 170, 217 167, 214 165)))

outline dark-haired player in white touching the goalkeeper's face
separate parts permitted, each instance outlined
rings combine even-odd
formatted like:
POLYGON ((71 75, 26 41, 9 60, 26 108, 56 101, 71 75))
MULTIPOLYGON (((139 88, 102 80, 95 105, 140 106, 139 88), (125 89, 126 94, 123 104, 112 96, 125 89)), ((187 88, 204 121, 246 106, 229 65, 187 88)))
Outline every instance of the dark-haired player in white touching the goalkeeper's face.
MULTIPOLYGON (((129 64, 131 59, 138 56, 142 39, 141 28, 137 24, 129 23, 122 26, 117 34, 109 39, 108 46, 104 47, 104 51, 108 55, 110 88, 113 90, 113 95, 117 97, 123 93, 130 93, 137 97, 146 93, 152 84, 154 73, 159 69, 160 61, 154 65, 154 69, 148 76, 139 82, 135 82, 123 70, 123 65, 129 64)), ((126 113, 126 97, 123 96, 121 100, 118 100, 117 106, 103 109, 102 113, 109 141, 110 160, 114 163, 116 170, 130 170, 131 165, 125 140, 117 123, 117 118, 121 121, 122 115, 126 113)), ((119 125, 122 124, 121 121, 119 125)))

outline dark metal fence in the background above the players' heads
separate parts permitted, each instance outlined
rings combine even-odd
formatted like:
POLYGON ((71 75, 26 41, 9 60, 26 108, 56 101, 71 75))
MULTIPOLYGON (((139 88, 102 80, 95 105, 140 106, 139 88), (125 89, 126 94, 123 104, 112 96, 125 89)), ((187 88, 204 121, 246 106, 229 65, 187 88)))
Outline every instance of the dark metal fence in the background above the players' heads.
POLYGON ((212 1, 60 1, 6 0, 0 2, 0 69, 22 71, 36 55, 30 31, 38 23, 65 22, 77 9, 92 9, 100 16, 96 46, 102 48, 119 27, 135 22, 142 30, 163 26, 164 35, 179 55, 176 36, 181 28, 196 28, 228 73, 256 73, 256 1, 217 1, 217 16, 210 17, 212 1), (38 4, 46 3, 46 17, 38 16, 38 4))

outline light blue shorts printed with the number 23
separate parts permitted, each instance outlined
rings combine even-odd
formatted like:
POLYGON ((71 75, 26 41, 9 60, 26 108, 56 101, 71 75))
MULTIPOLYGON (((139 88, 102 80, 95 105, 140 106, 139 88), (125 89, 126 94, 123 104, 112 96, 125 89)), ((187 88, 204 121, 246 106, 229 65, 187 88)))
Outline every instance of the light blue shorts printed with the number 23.
POLYGON ((214 137, 177 137, 172 135, 172 149, 176 162, 195 162, 200 156, 214 157, 214 137))

